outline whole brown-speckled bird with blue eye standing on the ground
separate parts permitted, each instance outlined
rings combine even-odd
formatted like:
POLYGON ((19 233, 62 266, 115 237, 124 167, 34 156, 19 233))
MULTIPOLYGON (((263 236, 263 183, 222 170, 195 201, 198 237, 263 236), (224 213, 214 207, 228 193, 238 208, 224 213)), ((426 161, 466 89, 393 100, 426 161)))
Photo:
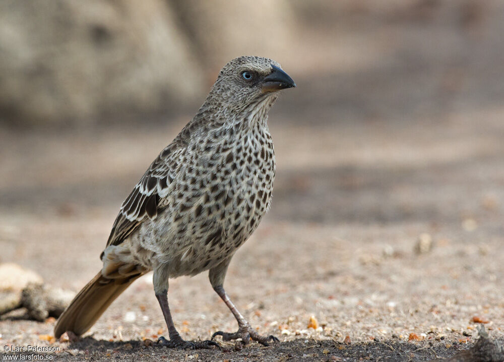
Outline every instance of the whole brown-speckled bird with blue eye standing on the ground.
POLYGON ((270 207, 276 163, 268 111, 279 91, 293 87, 269 58, 240 56, 221 69, 197 114, 122 203, 100 256, 103 267, 58 318, 56 338, 67 331, 84 334, 133 281, 153 271, 169 335, 158 342, 166 347, 220 347, 219 335, 244 344, 278 341, 251 327, 223 284, 231 258, 270 207), (207 270, 238 330, 186 341, 169 309, 168 280, 207 270))

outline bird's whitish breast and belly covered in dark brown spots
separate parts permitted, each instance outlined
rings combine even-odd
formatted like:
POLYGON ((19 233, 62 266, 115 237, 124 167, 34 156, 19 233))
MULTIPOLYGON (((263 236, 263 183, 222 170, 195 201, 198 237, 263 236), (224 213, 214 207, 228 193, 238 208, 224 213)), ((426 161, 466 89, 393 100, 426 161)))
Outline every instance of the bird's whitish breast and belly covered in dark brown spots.
POLYGON ((217 134, 198 148, 174 180, 159 215, 164 229, 152 240, 171 276, 195 275, 231 256, 271 200, 275 155, 267 127, 217 134))

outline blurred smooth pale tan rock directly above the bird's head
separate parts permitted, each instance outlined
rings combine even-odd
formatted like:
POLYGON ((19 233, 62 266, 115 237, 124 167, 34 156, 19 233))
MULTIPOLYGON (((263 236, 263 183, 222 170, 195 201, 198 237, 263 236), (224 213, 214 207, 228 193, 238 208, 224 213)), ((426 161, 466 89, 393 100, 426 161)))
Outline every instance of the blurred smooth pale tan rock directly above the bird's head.
POLYGON ((289 2, 256 0, 168 0, 203 67, 217 72, 240 55, 261 55, 282 63, 292 47, 294 14, 289 2))

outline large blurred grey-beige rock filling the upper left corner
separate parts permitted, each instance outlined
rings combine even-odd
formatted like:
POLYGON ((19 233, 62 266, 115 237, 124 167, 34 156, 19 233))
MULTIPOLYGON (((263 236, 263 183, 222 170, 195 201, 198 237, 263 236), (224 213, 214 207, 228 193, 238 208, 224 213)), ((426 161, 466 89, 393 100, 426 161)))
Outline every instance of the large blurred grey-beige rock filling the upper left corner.
POLYGON ((0 2, 0 121, 93 122, 193 101, 202 72, 166 2, 0 2))

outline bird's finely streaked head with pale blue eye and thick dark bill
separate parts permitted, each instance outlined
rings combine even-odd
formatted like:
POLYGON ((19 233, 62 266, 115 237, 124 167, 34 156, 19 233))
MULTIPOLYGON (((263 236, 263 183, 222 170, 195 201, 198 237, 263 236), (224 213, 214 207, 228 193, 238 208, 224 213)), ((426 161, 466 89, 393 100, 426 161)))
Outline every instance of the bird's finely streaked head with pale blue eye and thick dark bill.
POLYGON ((272 59, 240 56, 221 69, 207 101, 218 101, 220 107, 234 112, 257 104, 269 108, 279 90, 295 86, 292 78, 272 59))

